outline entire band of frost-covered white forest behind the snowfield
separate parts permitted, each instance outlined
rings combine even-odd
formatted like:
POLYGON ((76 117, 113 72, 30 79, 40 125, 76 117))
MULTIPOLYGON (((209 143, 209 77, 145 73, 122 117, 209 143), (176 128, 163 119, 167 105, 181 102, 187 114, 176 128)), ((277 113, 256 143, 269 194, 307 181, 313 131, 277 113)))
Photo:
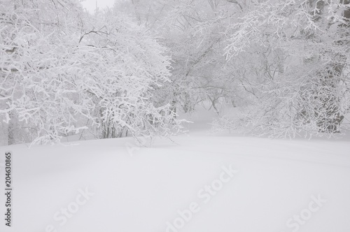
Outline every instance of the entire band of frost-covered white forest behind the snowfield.
POLYGON ((350 0, 2 0, 0 53, 1 145, 349 130, 350 0))

